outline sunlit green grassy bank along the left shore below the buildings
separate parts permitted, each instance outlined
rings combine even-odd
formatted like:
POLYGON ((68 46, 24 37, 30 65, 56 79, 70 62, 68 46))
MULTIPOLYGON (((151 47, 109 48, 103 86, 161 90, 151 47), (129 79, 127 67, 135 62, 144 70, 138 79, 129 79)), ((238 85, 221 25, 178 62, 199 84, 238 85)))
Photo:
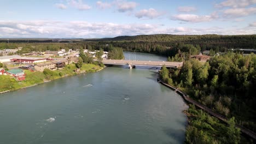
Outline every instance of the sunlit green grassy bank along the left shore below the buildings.
MULTIPOLYGON (((43 83, 48 80, 60 79, 61 77, 76 75, 74 72, 76 69, 74 64, 66 65, 65 68, 60 70, 46 70, 46 72, 40 71, 30 71, 25 70, 26 80, 24 81, 16 81, 13 77, 9 75, 0 75, 0 92, 4 91, 13 91, 16 89, 38 85, 39 83, 43 83)), ((98 65, 94 64, 83 64, 79 73, 90 73, 101 70, 102 68, 98 65)))

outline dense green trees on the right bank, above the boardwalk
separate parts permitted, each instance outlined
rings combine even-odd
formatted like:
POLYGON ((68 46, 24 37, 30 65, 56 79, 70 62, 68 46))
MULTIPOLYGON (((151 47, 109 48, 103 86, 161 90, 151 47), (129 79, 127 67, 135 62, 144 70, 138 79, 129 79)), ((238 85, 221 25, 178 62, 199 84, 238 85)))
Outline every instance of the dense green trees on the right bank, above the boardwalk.
POLYGON ((202 63, 188 59, 181 69, 163 67, 160 76, 190 98, 255 131, 256 55, 229 52, 202 63))

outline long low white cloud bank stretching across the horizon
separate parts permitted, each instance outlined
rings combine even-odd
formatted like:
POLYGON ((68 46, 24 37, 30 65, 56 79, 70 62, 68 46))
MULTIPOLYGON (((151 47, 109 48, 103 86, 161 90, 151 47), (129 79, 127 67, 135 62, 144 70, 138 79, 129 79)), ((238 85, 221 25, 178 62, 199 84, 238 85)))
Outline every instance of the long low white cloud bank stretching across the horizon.
POLYGON ((117 24, 86 21, 0 21, 0 38, 104 38, 139 34, 255 34, 251 27, 190 28, 147 23, 117 24))

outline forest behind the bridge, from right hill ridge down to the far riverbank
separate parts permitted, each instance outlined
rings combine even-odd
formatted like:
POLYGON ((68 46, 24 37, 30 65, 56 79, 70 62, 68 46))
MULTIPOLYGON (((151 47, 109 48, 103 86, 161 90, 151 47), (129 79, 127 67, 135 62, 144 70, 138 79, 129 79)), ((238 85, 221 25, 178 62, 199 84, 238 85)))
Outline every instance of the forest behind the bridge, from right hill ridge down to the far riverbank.
POLYGON ((256 35, 137 35, 105 39, 88 39, 98 45, 112 44, 124 51, 148 52, 165 56, 174 56, 178 50, 188 51, 190 46, 200 47, 201 51, 213 49, 226 52, 230 49, 256 49, 256 35))

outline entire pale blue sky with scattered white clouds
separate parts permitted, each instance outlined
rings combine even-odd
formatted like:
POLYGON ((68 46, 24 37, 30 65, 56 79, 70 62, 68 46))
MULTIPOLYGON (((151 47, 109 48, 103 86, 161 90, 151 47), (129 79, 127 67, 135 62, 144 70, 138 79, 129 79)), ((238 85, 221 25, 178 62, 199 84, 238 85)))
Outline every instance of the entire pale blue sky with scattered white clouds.
POLYGON ((256 34, 256 0, 0 0, 0 38, 256 34))

